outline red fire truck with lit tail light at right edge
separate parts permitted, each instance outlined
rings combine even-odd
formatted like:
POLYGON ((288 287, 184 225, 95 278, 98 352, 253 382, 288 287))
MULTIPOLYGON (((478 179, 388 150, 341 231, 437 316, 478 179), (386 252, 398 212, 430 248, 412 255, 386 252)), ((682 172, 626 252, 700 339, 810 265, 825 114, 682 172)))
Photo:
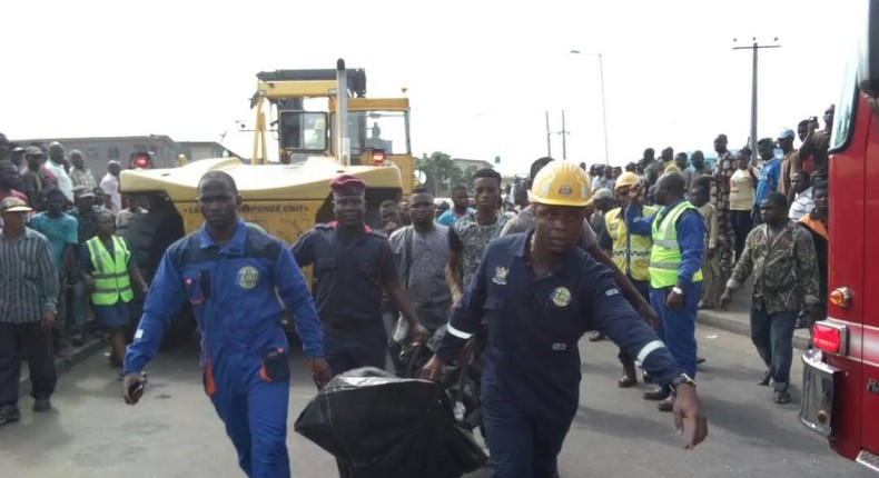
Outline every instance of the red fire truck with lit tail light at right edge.
POLYGON ((830 141, 828 317, 803 355, 800 420, 879 471, 879 0, 862 4, 830 141))

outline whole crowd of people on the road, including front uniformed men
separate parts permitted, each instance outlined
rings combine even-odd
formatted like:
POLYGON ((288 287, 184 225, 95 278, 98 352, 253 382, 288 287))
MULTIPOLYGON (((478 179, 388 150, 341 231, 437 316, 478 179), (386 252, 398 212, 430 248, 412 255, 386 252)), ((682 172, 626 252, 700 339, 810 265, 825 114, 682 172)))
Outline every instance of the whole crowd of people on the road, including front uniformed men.
MULTIPOLYGON (((209 173, 199 183, 205 226, 168 249, 151 285, 115 236, 116 226, 148 212, 136 195, 122 203, 118 162, 98 179, 80 151, 68 156, 58 142, 19 147, 0 135, 8 225, 0 235, 0 343, 16 343, 0 347, 0 384, 17 386, 27 359, 34 409, 49 409, 52 356, 82 343, 93 316, 110 332, 111 364, 125 361, 126 400, 137 402, 164 320, 188 300, 204 338, 206 394, 241 468, 285 476, 289 346, 271 318, 279 309, 265 307, 271 300, 247 307, 253 293, 277 287, 283 305, 299 312, 318 385, 357 367, 385 368, 388 352, 397 358, 405 343, 446 330, 424 374, 436 378, 452 360, 482 361, 482 428, 496 476, 554 476, 577 398, 576 339, 590 330, 591 340, 606 336, 620 346, 618 386, 635 385, 642 368, 658 386, 644 398, 688 418, 695 446, 707 434, 691 387, 697 311, 727 307, 749 279, 751 338, 767 367, 759 382, 772 385, 777 404, 790 399, 793 329, 826 308, 832 113, 828 108, 823 130, 810 118, 797 133, 786 128, 761 139, 757 161, 748 148, 731 151, 727 135, 717 136, 709 160, 671 147, 659 158, 646 148, 625 168, 541 158, 506 198, 500 173, 480 170, 472 185, 453 188, 452 205, 435 205, 425 189, 382 203, 381 230, 364 222, 368 185, 343 175, 330 185, 335 220, 290 249, 245 227, 235 181, 209 173), (11 279, 21 277, 14 261, 22 255, 41 265, 27 292, 11 279), (314 296, 299 272, 309 265, 314 296), (147 295, 145 311, 125 355, 138 295, 147 295), (239 328, 253 340, 229 336, 239 328), (522 370, 533 377, 523 380, 522 370), (522 452, 527 444, 534 448, 522 452)), ((8 391, 0 424, 20 416, 18 392, 13 399, 8 391)))

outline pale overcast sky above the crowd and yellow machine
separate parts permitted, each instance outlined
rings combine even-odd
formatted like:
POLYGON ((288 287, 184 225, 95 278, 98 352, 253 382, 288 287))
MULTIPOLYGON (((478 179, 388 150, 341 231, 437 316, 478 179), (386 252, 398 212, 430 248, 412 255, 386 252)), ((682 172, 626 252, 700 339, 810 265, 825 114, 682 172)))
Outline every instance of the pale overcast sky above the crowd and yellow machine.
MULTIPOLYGON (((818 1, 16 1, 0 29, 0 131, 14 138, 168 135, 249 156, 248 99, 261 70, 367 73, 367 96, 408 88, 417 156, 493 160, 524 172, 546 153, 544 112, 567 159, 611 163, 646 147, 744 145, 751 54, 759 136, 837 102, 853 0, 818 1), (584 54, 571 54, 579 49, 584 54)), ((562 156, 553 135, 553 156, 562 156)))

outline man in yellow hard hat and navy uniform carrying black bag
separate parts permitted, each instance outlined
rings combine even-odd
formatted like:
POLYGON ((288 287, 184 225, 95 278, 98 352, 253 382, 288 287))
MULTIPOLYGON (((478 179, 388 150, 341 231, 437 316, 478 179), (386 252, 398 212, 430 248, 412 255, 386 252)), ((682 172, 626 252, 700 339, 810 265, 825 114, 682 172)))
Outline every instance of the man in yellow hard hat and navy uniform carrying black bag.
POLYGON ((674 421, 687 422, 685 448, 708 435, 694 382, 632 309, 604 266, 576 247, 589 200, 589 177, 553 161, 535 178, 535 228, 492 241, 456 306, 443 341, 424 368, 436 380, 443 365, 484 319, 482 414, 494 478, 557 477, 557 455, 576 414, 577 342, 597 329, 636 357, 660 384, 678 390, 674 421))

